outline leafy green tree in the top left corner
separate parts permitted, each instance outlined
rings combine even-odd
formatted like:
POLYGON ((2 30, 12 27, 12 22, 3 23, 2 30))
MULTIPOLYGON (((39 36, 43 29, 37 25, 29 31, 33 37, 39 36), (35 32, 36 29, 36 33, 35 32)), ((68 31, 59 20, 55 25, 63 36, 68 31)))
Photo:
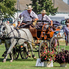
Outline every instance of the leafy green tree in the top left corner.
POLYGON ((5 18, 11 17, 15 13, 15 3, 16 0, 0 0, 0 11, 5 18))

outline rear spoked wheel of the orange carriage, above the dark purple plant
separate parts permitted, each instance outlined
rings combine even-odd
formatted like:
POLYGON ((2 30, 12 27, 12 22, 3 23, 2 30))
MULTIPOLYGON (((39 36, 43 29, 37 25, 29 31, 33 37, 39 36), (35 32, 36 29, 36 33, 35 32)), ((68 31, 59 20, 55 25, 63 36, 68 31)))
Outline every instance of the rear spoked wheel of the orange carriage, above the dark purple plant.
POLYGON ((55 53, 59 51, 59 41, 58 41, 58 39, 56 37, 51 38, 50 46, 51 46, 50 50, 54 51, 55 53))

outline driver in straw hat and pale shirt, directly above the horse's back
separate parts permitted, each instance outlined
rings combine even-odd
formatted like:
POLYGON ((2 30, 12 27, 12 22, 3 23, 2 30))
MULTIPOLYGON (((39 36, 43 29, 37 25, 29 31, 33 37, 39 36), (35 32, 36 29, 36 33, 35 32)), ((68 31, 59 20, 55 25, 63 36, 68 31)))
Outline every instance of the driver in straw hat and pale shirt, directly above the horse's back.
POLYGON ((37 14, 32 11, 32 6, 29 5, 27 7, 27 10, 24 10, 20 15, 19 18, 21 19, 21 17, 23 17, 23 21, 21 23, 21 26, 25 25, 25 24, 30 24, 30 22, 32 21, 37 21, 38 20, 38 16, 37 14))

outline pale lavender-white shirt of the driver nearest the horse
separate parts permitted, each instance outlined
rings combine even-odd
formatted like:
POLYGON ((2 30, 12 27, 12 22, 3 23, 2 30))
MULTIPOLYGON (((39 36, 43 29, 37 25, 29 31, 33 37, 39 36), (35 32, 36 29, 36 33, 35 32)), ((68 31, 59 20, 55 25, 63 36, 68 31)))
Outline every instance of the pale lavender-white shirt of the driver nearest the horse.
POLYGON ((33 11, 31 11, 29 14, 27 10, 24 10, 20 15, 23 17, 23 21, 32 21, 32 18, 30 16, 32 16, 33 19, 38 18, 38 16, 33 11))

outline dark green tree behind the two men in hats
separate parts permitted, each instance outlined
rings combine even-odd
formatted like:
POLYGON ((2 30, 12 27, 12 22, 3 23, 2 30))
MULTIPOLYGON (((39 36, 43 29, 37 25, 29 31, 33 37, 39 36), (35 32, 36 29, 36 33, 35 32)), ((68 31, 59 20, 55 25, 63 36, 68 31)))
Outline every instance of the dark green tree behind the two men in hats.
POLYGON ((57 8, 54 8, 52 0, 31 0, 33 7, 33 11, 35 11, 37 14, 41 12, 41 10, 46 10, 47 14, 55 14, 57 12, 57 8))

